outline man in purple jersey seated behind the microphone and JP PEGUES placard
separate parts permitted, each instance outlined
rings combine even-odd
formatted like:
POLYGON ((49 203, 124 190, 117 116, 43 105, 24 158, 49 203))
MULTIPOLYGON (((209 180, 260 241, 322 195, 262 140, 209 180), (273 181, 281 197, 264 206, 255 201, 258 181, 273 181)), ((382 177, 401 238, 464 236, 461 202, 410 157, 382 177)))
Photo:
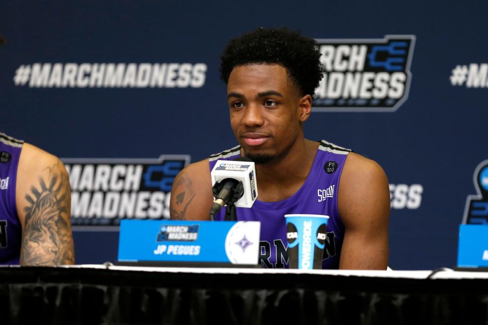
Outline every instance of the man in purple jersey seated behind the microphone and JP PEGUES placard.
MULTIPOLYGON (((287 267, 284 215, 306 213, 330 217, 323 268, 384 270, 390 197, 383 169, 349 149, 303 135, 323 77, 320 55, 315 40, 287 28, 258 28, 230 40, 220 72, 239 145, 177 175, 171 218, 208 220, 211 169, 218 159, 246 156, 256 164, 258 198, 251 209, 237 208, 237 218, 261 221, 264 267, 287 267)), ((316 118, 323 120, 324 132, 333 123, 333 115, 316 118)), ((222 209, 216 220, 224 214, 222 209)))

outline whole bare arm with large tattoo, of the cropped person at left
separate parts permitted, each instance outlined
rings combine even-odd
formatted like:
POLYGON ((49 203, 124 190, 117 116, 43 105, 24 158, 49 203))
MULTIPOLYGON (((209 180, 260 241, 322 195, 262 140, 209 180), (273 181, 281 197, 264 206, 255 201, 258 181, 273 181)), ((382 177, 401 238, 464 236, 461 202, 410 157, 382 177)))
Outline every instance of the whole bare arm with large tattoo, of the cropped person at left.
POLYGON ((71 188, 63 163, 25 143, 16 186, 17 213, 22 225, 20 264, 74 264, 71 188))

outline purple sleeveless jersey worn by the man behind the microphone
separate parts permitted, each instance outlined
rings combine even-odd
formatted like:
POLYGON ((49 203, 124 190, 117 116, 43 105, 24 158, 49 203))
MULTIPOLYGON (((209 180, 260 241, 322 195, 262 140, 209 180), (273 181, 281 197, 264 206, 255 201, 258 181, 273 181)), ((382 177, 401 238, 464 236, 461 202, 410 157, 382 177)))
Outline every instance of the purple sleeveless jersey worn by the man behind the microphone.
MULTIPOLYGON (((279 202, 256 200, 252 208, 236 208, 238 220, 261 221, 260 262, 263 267, 288 267, 285 214, 308 213, 329 216, 322 268, 339 268, 344 225, 337 208, 337 193, 350 151, 322 140, 309 176, 291 197, 279 202)), ((211 155, 210 171, 217 160, 232 160, 239 156, 240 146, 211 155)), ((225 208, 215 216, 215 220, 223 220, 224 215, 225 208)))

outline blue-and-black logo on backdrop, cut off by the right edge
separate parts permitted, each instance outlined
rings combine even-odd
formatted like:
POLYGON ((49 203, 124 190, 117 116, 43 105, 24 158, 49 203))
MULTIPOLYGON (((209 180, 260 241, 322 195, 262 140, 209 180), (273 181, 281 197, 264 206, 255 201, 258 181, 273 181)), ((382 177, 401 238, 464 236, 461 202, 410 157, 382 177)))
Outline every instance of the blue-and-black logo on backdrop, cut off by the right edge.
POLYGON ((463 223, 488 224, 488 159, 476 167, 473 183, 478 194, 466 198, 463 223))

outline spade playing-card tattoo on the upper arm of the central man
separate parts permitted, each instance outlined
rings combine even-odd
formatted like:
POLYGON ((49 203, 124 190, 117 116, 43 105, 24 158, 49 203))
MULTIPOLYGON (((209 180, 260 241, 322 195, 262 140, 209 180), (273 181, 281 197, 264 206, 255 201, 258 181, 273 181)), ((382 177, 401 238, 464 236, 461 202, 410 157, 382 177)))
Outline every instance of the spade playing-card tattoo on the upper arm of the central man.
POLYGON ((171 198, 171 204, 169 207, 171 219, 185 219, 187 209, 195 197, 193 183, 190 177, 188 177, 187 173, 181 172, 178 174, 178 176, 176 176, 173 182, 173 190, 171 195, 175 196, 175 200, 171 198))

